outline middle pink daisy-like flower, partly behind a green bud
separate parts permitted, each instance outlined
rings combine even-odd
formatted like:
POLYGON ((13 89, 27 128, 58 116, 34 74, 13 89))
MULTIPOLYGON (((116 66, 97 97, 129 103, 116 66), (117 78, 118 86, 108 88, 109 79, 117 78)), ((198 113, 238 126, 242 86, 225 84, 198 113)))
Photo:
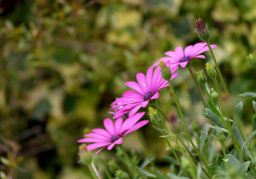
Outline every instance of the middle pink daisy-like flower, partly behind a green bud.
MULTIPOLYGON (((169 64, 169 61, 166 62, 166 66, 169 66, 169 64)), ((176 64, 170 66, 172 73, 175 72, 177 68, 178 66, 176 64)), ((173 73, 171 80, 177 75, 177 73, 173 73)), ((159 66, 157 66, 154 73, 153 66, 151 66, 148 69, 146 76, 143 73, 138 73, 137 81, 139 84, 134 81, 128 81, 125 83, 128 87, 132 88, 136 92, 131 90, 126 91, 122 98, 119 98, 113 102, 113 104, 117 105, 112 107, 110 110, 123 106, 117 113, 115 113, 113 118, 118 118, 119 116, 127 113, 129 110, 131 110, 129 117, 133 116, 141 107, 146 107, 150 100, 158 98, 159 90, 169 85, 168 82, 162 78, 159 66)))

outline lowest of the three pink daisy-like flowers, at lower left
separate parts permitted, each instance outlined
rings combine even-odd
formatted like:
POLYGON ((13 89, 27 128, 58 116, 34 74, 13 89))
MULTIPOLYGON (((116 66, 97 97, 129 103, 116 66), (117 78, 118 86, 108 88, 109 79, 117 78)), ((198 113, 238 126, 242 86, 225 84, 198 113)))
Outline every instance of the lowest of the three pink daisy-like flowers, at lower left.
POLYGON ((148 120, 137 123, 144 114, 145 112, 137 113, 131 118, 126 119, 124 122, 122 117, 117 118, 115 124, 113 124, 111 119, 106 118, 103 121, 106 130, 99 128, 93 129, 93 133, 85 135, 88 138, 80 139, 78 142, 93 142, 93 144, 86 146, 87 150, 101 147, 101 149, 96 152, 96 155, 105 147, 107 147, 108 150, 111 150, 115 144, 122 144, 123 136, 126 136, 148 123, 148 120))

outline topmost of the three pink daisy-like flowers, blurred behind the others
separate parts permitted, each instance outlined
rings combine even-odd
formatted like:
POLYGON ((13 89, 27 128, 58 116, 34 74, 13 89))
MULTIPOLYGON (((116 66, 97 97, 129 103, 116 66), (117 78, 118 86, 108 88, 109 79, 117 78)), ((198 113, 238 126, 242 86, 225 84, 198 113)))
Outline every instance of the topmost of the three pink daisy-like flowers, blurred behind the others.
MULTIPOLYGON (((215 48, 217 45, 212 44, 211 48, 215 48)), ((170 64, 177 64, 184 68, 190 60, 193 58, 205 58, 204 55, 200 55, 203 52, 209 51, 207 43, 199 42, 195 45, 187 46, 184 51, 181 46, 175 48, 175 52, 169 51, 165 52, 165 55, 169 57, 160 58, 158 61, 170 61, 170 64)), ((157 66, 158 62, 155 63, 153 66, 157 66)))

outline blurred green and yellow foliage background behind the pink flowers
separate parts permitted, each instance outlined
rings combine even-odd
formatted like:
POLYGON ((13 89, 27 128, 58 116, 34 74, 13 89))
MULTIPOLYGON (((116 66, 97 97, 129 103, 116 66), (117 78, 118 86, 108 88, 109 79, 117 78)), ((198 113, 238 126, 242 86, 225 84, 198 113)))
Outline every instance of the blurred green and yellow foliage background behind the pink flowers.
MULTIPOLYGON (((198 17, 218 45, 213 51, 231 93, 222 96, 224 105, 233 116, 243 101, 250 133, 252 99, 238 95, 256 92, 256 70, 246 59, 256 52, 255 0, 0 0, 0 155, 18 166, 9 170, 2 160, 0 170, 13 179, 90 179, 76 141, 113 116, 109 105, 129 89, 126 81, 136 81, 164 52, 199 42, 198 17)), ((212 62, 204 55, 192 60, 193 71, 212 62)), ((186 120, 201 129, 208 122, 204 107, 189 71, 177 71, 173 83, 186 120)), ((169 130, 177 132, 167 88, 158 101, 169 130)), ((156 165, 168 171, 169 151, 151 125, 140 135, 156 165)), ((125 137, 124 147, 145 158, 136 134, 125 137)), ((108 162, 115 150, 101 156, 108 162)))

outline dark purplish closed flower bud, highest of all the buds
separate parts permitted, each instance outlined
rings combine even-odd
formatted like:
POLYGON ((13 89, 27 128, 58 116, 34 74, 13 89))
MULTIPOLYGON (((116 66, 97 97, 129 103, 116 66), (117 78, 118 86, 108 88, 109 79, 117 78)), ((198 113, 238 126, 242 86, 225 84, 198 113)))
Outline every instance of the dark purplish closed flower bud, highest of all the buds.
POLYGON ((195 19, 195 26, 195 32, 198 33, 199 39, 204 42, 208 42, 210 40, 210 32, 207 24, 204 24, 202 18, 195 19))

